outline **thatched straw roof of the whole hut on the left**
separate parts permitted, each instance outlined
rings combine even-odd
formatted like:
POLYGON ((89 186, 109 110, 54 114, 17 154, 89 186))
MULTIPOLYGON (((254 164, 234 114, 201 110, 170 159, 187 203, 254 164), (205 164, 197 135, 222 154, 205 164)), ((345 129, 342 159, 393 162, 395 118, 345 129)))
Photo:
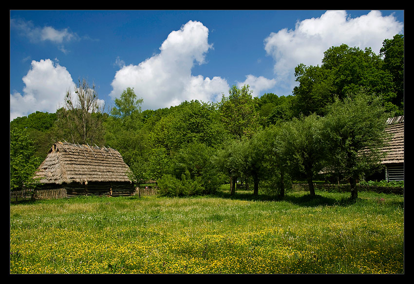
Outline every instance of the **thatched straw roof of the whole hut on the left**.
POLYGON ((130 168, 111 148, 56 142, 39 166, 41 183, 131 182, 130 168))

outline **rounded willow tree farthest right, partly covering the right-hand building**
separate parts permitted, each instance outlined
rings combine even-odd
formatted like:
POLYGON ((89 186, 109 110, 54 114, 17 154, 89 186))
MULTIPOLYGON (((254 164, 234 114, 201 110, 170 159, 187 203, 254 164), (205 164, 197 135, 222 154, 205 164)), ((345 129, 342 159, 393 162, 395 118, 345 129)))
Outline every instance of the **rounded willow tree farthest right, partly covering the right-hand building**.
POLYGON ((349 179, 351 198, 358 197, 357 180, 375 170, 387 144, 387 117, 381 98, 360 91, 327 108, 323 136, 331 169, 349 179))

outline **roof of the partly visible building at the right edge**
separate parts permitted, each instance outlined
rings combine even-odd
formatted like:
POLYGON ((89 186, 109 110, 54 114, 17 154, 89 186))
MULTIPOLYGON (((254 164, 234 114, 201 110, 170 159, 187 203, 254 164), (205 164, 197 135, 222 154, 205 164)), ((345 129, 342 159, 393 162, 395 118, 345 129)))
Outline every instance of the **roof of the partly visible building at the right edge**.
POLYGON ((381 163, 404 163, 404 115, 389 118, 387 124, 385 132, 391 133, 392 138, 388 146, 384 148, 384 151, 387 151, 387 156, 381 163))

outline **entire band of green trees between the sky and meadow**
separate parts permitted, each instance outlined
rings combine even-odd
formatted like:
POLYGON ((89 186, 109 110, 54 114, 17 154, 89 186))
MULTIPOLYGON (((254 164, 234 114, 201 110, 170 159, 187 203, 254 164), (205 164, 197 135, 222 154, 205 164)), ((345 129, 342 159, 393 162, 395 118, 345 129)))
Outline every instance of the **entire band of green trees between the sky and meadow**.
MULTIPOLYGON (((132 88, 99 109, 94 86, 79 80, 65 107, 10 122, 10 189, 33 185, 33 173, 56 141, 118 150, 137 184, 157 181, 172 196, 214 193, 236 180, 258 194, 283 196, 292 180, 323 170, 355 182, 377 169, 387 117, 404 114, 404 36, 380 53, 345 44, 329 48, 320 66, 299 64, 292 95, 253 97, 233 86, 221 101, 184 101, 141 110, 132 88), (370 149, 370 151, 363 151, 370 149)), ((354 185, 354 187, 353 187, 354 185)))

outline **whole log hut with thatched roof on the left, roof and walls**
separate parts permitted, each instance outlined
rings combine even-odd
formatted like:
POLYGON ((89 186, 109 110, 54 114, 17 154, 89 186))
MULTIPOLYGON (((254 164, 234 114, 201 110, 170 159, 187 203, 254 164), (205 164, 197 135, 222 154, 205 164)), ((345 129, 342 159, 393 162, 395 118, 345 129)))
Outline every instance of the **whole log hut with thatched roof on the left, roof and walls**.
POLYGON ((35 177, 40 178, 38 194, 44 198, 129 196, 135 192, 130 172, 121 154, 112 148, 56 142, 35 177))

